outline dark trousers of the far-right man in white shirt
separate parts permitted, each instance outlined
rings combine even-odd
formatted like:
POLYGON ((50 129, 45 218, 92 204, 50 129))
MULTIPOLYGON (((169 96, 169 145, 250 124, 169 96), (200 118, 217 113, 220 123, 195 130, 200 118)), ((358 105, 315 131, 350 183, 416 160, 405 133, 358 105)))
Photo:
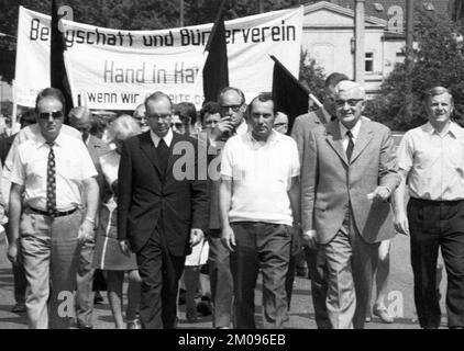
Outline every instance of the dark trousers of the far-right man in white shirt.
POLYGON ((449 327, 464 327, 464 201, 408 204, 415 301, 422 328, 438 328, 441 312, 437 293, 437 259, 442 250, 448 273, 449 327))

